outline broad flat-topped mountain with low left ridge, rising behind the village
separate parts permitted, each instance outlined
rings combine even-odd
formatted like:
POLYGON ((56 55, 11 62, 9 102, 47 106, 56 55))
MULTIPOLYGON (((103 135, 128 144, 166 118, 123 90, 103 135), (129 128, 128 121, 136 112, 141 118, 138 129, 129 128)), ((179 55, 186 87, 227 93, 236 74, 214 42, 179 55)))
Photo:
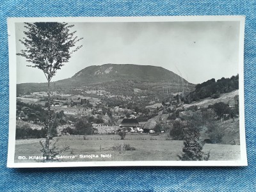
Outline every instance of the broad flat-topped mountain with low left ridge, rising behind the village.
MULTIPOLYGON (((110 95, 132 97, 190 92, 195 85, 163 67, 132 64, 92 65, 68 79, 51 83, 51 90, 83 94, 86 90, 104 90, 110 95)), ((46 83, 17 84, 17 93, 43 92, 46 83)))

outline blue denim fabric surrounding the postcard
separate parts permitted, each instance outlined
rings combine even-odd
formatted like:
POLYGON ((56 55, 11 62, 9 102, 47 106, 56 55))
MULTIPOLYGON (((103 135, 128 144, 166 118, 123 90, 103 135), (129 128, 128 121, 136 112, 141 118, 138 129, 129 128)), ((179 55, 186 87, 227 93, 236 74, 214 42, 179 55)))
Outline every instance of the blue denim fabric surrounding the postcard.
POLYGON ((0 191, 256 191, 256 1, 0 2, 0 191), (248 167, 6 168, 8 146, 7 17, 246 15, 245 122, 248 167))

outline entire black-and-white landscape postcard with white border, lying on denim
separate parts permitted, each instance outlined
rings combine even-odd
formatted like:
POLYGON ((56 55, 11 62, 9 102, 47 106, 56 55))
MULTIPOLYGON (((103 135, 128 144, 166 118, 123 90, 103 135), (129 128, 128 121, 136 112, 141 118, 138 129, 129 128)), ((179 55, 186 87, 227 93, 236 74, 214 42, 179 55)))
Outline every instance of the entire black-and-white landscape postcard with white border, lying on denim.
POLYGON ((246 166, 244 20, 8 19, 7 166, 246 166))

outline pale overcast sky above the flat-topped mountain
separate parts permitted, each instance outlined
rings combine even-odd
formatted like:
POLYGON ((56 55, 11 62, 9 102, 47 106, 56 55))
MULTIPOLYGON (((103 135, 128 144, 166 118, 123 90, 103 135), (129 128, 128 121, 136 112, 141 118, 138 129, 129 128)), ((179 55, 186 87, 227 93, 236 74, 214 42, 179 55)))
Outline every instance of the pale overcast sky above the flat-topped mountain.
MULTIPOLYGON (((83 47, 52 81, 74 76, 90 65, 154 65, 190 83, 238 74, 239 22, 81 22, 74 24, 83 47)), ((24 24, 15 24, 17 52, 24 49, 24 24)), ((77 44, 78 45, 78 44, 77 44)), ((43 72, 17 56, 17 83, 47 82, 43 72)))

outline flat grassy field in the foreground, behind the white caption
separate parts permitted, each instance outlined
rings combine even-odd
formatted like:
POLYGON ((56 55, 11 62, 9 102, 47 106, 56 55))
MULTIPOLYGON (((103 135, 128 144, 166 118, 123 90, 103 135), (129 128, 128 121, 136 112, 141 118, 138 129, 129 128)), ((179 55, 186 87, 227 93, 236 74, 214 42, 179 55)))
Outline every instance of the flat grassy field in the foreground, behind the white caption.
MULTIPOLYGON (((42 140, 42 139, 41 139, 42 140)), ((51 140, 51 145, 57 140, 51 140)), ((40 139, 16 140, 15 163, 38 162, 36 156, 42 156, 40 139)), ((182 153, 183 141, 166 140, 166 134, 127 134, 125 140, 118 135, 61 136, 56 146, 70 148, 60 154, 67 158, 56 161, 177 161, 182 153), (135 150, 114 150, 113 147, 130 145, 135 150), (105 156, 105 155, 108 156, 105 156), (94 155, 94 156, 91 156, 94 155), (98 156, 98 157, 97 157, 98 156), (111 156, 111 157, 110 157, 111 156)), ((205 153, 210 152, 209 161, 240 159, 240 145, 205 144, 205 153)))

